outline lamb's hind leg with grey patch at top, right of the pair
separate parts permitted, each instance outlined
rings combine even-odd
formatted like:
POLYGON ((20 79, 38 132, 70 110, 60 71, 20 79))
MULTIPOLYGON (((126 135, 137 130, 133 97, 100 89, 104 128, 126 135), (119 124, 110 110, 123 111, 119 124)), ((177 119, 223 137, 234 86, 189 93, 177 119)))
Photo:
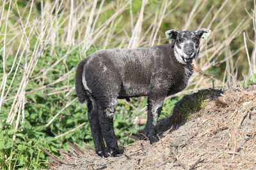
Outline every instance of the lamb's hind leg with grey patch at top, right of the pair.
POLYGON ((115 107, 117 99, 113 99, 111 103, 105 103, 99 108, 100 127, 102 134, 107 145, 107 151, 113 156, 116 156, 120 152, 113 128, 113 116, 115 113, 115 107))

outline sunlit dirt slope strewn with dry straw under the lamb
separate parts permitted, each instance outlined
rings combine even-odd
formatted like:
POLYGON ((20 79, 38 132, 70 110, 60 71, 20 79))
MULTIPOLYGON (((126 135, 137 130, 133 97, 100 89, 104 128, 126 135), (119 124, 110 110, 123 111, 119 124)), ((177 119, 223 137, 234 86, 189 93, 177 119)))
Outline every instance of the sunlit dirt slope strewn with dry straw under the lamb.
POLYGON ((256 169, 256 90, 227 90, 188 121, 172 124, 155 145, 140 140, 107 159, 70 143, 51 169, 256 169))

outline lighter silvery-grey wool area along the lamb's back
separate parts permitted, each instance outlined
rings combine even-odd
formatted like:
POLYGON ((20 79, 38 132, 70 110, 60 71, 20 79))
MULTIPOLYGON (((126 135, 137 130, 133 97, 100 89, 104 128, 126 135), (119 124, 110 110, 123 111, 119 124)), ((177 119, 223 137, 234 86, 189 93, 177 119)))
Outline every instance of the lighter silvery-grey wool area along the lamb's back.
POLYGON ((138 78, 147 79, 166 64, 166 62, 164 63, 164 55, 166 55, 164 50, 167 49, 168 45, 99 50, 88 57, 87 65, 99 67, 102 71, 115 70, 124 81, 140 83, 138 78))

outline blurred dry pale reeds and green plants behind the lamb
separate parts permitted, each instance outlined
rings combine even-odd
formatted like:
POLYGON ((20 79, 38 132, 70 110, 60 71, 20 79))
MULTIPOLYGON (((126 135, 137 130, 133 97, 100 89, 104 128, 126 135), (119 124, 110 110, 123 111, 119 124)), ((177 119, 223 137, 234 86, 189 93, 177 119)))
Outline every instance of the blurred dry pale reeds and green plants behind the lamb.
MULTIPOLYGON (((74 89, 80 60, 105 48, 171 43, 168 29, 212 30, 201 41, 198 67, 215 74, 218 88, 256 81, 255 1, 26 1, 0 2, 0 169, 46 167, 67 141, 92 143, 87 108, 74 89)), ((187 89, 164 101, 161 118, 184 94, 212 87, 196 73, 187 89)), ((143 125, 147 99, 119 100, 115 132, 120 145, 143 125)))

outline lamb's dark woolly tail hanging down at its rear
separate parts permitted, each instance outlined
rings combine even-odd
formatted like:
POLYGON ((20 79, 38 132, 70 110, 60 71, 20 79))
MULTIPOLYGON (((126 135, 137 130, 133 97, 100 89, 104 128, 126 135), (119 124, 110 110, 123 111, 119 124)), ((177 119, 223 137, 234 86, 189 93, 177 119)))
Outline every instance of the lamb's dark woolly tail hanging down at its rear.
POLYGON ((82 82, 83 77, 83 67, 86 60, 82 60, 77 68, 76 68, 76 94, 78 97, 79 102, 84 103, 86 101, 86 91, 84 90, 84 85, 82 82))

